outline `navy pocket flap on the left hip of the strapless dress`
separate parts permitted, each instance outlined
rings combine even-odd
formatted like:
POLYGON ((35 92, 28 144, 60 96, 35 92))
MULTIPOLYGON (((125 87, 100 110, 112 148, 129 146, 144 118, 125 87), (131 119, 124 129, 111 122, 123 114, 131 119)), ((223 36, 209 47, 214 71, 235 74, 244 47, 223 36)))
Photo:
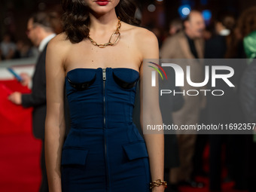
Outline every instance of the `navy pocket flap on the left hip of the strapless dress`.
POLYGON ((62 150, 61 165, 84 165, 88 151, 84 148, 64 148, 62 150))

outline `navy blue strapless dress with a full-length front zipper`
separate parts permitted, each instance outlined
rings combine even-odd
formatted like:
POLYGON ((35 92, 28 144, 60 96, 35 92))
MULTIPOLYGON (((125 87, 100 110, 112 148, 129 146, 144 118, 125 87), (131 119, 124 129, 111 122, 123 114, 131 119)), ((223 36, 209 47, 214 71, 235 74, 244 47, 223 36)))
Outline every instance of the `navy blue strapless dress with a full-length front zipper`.
POLYGON ((72 127, 62 146, 62 192, 149 192, 145 140, 133 123, 139 72, 72 69, 66 76, 72 127))

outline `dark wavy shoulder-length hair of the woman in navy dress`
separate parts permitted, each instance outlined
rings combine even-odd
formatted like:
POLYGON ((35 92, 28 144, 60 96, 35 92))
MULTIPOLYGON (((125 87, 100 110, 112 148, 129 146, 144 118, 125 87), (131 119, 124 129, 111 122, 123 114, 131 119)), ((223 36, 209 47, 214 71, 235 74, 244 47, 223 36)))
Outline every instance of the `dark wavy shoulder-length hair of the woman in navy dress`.
MULTIPOLYGON (((84 0, 62 0, 62 27, 72 43, 79 43, 87 38, 90 29, 89 8, 84 0)), ((115 8, 117 17, 125 23, 139 25, 135 18, 136 4, 132 0, 120 0, 115 8)))

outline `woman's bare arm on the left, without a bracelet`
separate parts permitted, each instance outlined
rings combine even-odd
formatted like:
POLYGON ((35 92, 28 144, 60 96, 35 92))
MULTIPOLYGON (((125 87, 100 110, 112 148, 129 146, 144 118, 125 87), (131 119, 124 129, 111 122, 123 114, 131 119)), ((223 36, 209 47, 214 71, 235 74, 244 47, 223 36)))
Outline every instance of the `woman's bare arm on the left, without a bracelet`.
POLYGON ((47 114, 45 120, 45 164, 50 192, 61 192, 60 162, 65 135, 63 67, 65 50, 59 37, 50 41, 46 56, 47 114))

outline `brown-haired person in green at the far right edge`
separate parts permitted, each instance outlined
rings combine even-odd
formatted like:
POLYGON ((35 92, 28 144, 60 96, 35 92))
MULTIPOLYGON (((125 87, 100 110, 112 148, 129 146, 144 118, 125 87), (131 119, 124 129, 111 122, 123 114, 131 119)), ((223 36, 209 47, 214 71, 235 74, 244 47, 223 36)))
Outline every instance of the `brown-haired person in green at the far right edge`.
MULTIPOLYGON (((248 65, 240 81, 239 99, 246 123, 256 122, 256 7, 245 10, 239 17, 239 32, 243 39, 248 65)), ((256 126, 245 140, 245 181, 249 192, 256 191, 256 126)))

